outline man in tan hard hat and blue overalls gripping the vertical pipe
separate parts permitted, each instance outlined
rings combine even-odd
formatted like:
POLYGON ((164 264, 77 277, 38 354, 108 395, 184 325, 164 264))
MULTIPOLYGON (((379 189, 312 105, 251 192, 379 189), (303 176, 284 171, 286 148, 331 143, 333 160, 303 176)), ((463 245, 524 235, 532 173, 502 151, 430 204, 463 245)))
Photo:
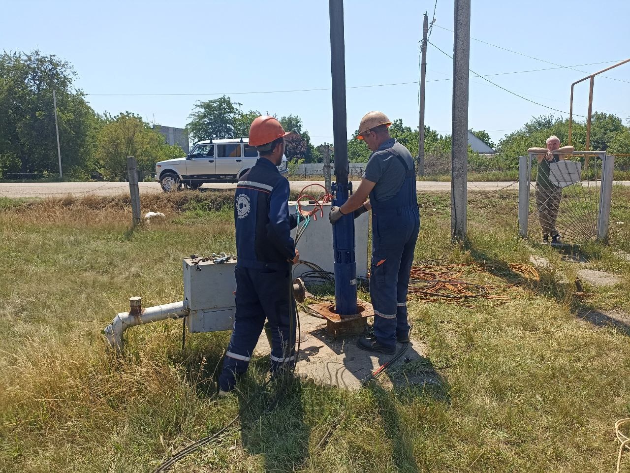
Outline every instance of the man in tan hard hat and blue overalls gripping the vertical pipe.
POLYGON ((391 124, 381 111, 370 111, 361 119, 357 139, 373 152, 355 193, 329 214, 335 224, 344 215, 353 213, 356 219, 372 210, 370 298, 375 337, 359 338, 357 344, 387 355, 396 351, 396 341, 409 341, 407 290, 420 231, 415 163, 409 150, 389 135, 391 124))

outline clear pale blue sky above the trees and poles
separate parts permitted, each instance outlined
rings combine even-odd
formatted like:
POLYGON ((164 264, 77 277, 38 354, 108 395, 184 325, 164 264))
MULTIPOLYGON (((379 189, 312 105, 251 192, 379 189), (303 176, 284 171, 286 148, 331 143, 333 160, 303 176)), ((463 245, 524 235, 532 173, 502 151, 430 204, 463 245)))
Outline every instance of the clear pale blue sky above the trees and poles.
MULTIPOLYGON (((348 134, 369 110, 418 124, 422 15, 433 0, 345 1, 348 134), (378 84, 394 86, 353 88, 378 84)), ((0 0, 0 45, 39 48, 71 62, 75 85, 98 112, 134 111, 183 127, 197 100, 227 93, 244 110, 299 115, 314 144, 333 134, 328 1, 0 0), (166 96, 98 94, 192 94, 166 96)), ((452 0, 438 0, 430 41, 452 55, 452 0), (441 26, 442 28, 439 28, 441 26)), ((473 0, 470 67, 479 74, 590 66, 488 77, 529 100, 569 110, 571 82, 630 57, 630 2, 473 0)), ((452 60, 429 46, 427 125, 450 133, 452 60), (446 79, 446 80, 440 80, 446 79)), ((630 64, 598 77, 593 110, 630 118, 630 64)), ((576 86, 586 115, 588 81, 576 86)), ((471 78, 469 127, 496 141, 532 116, 555 113, 471 78)), ((568 115, 565 114, 565 115, 568 115)), ((624 123, 630 124, 630 120, 624 123)))

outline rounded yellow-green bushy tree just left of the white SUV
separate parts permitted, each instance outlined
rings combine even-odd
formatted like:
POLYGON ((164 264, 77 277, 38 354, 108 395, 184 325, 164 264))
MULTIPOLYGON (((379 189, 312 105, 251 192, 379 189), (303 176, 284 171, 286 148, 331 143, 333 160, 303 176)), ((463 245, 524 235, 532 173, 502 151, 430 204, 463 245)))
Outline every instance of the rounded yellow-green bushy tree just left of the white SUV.
POLYGON ((166 144, 164 135, 135 113, 125 111, 115 117, 106 114, 103 120, 96 156, 106 178, 125 176, 127 156, 135 157, 139 171, 148 172, 157 161, 185 156, 179 146, 166 144))

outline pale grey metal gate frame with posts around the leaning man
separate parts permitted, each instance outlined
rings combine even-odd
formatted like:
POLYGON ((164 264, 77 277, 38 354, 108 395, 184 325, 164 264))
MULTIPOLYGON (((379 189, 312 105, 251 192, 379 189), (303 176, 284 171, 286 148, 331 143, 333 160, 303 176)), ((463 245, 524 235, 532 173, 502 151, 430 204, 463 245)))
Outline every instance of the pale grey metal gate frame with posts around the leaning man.
MULTIPOLYGON (((532 160, 538 153, 528 153, 518 157, 518 236, 527 238, 529 222, 529 195, 532 180, 532 160)), ((605 151, 574 151, 573 156, 596 155, 602 159, 602 179, 599 188, 599 209, 597 212, 597 241, 608 242, 610 204, 612 201, 612 171, 615 156, 605 151)))

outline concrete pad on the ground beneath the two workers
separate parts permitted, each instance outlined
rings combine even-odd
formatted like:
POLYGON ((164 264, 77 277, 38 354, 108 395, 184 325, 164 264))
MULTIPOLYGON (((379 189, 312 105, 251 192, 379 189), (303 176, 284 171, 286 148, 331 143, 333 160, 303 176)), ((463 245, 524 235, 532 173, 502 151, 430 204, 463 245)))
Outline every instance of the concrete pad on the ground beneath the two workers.
MULTIPOLYGON (((332 336, 326 331, 326 319, 300 313, 301 345, 295 372, 324 385, 359 389, 362 382, 394 355, 375 356, 357 347, 358 336, 332 336)), ((396 348, 401 348, 397 344, 396 348)), ((265 333, 256 345, 256 354, 268 355, 271 347, 265 333)), ((379 376, 386 387, 439 384, 439 376, 430 368, 425 345, 411 338, 407 350, 387 372, 379 376), (408 359, 408 360, 407 360, 408 359)))

